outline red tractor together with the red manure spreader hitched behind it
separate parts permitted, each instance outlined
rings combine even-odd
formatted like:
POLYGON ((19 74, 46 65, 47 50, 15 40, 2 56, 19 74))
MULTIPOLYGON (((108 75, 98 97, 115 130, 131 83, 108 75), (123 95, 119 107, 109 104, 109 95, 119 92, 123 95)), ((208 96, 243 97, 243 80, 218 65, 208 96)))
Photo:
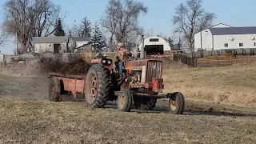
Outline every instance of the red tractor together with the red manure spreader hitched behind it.
POLYGON ((88 106, 103 107, 107 101, 117 100, 118 110, 153 110, 158 98, 169 98, 170 112, 182 114, 185 99, 179 92, 161 94, 163 62, 157 59, 130 58, 125 62, 123 76, 111 59, 91 60, 86 75, 50 74, 50 100, 58 101, 60 94, 71 92, 74 97, 82 94, 88 106))

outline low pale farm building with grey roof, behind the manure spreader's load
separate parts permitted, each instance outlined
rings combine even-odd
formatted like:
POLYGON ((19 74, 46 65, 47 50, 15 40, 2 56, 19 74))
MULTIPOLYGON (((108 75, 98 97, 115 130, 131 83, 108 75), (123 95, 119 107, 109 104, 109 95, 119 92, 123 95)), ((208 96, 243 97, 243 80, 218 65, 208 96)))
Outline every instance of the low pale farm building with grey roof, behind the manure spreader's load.
POLYGON ((35 53, 53 52, 54 54, 74 52, 74 49, 90 42, 90 38, 58 36, 34 37, 35 53))

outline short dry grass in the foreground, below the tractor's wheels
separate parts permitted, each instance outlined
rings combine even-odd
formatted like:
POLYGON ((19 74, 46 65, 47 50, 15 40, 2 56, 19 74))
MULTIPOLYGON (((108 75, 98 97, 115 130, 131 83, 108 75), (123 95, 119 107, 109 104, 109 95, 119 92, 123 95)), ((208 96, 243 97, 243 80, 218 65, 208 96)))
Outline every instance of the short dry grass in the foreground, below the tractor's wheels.
POLYGON ((90 109, 84 102, 1 99, 0 143, 256 142, 253 108, 236 107, 242 114, 234 107, 187 101, 189 111, 174 115, 166 113, 166 103, 158 102, 160 111, 124 113, 116 106, 90 109))

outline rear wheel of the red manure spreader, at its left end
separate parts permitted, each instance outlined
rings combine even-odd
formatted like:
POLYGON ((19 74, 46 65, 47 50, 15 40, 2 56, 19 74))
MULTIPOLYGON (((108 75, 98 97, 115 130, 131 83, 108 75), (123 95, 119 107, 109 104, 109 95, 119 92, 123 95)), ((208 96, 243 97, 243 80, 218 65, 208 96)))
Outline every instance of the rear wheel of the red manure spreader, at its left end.
POLYGON ((50 101, 59 102, 61 95, 61 82, 58 78, 51 78, 49 85, 50 101))

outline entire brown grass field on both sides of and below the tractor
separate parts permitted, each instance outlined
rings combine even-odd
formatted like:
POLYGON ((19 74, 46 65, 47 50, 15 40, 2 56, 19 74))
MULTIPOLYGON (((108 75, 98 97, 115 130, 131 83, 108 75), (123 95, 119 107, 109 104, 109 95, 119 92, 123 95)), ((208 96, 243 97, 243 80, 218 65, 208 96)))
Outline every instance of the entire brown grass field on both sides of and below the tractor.
POLYGON ((256 143, 253 65, 164 70, 165 92, 186 98, 182 115, 168 113, 165 100, 130 113, 114 103, 49 102, 49 79, 28 72, 37 74, 0 74, 0 143, 256 143))

